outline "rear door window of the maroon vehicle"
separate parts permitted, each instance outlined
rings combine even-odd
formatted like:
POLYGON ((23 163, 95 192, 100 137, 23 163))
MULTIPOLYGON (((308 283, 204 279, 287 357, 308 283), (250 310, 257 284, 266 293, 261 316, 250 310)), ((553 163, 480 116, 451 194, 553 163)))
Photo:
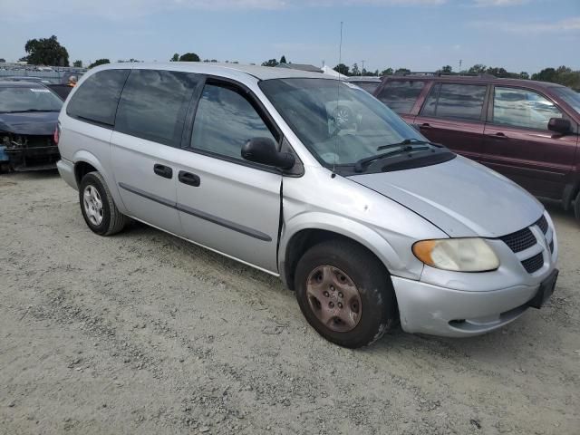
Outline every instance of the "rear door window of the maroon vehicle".
POLYGON ((442 83, 433 86, 420 114, 479 121, 487 89, 485 84, 442 83))

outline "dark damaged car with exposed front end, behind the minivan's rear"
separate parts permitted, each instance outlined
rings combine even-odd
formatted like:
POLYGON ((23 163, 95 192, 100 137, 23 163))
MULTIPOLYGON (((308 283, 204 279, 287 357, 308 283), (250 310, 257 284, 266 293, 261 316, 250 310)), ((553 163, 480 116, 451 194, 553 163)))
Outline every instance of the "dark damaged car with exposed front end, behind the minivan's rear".
POLYGON ((54 141, 63 101, 35 82, 0 82, 2 169, 54 169, 60 155, 54 141))

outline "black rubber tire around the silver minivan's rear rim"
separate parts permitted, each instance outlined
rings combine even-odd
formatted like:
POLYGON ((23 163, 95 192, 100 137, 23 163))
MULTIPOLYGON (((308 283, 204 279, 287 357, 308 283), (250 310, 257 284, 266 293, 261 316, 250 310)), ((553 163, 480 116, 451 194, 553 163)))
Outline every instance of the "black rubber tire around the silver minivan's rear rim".
POLYGON ((105 183, 105 180, 99 172, 89 172, 82 177, 79 189, 79 202, 81 204, 82 218, 84 218, 84 221, 87 223, 87 226, 91 228, 92 232, 100 236, 112 236, 113 234, 117 234, 129 222, 129 218, 121 214, 117 206, 115 206, 115 203, 112 200, 111 191, 107 188, 107 183, 105 183), (102 200, 102 221, 99 224, 92 222, 88 216, 87 210, 85 209, 83 195, 85 189, 88 187, 96 189, 102 200))

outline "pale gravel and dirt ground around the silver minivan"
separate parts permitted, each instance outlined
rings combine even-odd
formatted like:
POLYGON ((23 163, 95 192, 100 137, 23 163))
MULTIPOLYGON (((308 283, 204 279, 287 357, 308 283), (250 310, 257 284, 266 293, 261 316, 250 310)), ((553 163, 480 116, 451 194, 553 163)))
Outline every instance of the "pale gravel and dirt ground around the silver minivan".
POLYGON ((0 176, 0 433, 580 433, 580 226, 552 302, 497 333, 325 342, 275 278, 0 176))

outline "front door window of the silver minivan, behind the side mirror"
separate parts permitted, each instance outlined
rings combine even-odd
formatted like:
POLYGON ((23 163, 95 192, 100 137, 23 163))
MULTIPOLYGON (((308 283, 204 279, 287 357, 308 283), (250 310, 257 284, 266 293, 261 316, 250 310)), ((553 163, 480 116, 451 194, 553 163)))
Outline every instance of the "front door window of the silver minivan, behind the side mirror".
POLYGON ((275 140, 256 109, 231 89, 208 84, 198 104, 191 147, 242 159, 242 146, 252 138, 275 140))

